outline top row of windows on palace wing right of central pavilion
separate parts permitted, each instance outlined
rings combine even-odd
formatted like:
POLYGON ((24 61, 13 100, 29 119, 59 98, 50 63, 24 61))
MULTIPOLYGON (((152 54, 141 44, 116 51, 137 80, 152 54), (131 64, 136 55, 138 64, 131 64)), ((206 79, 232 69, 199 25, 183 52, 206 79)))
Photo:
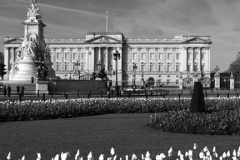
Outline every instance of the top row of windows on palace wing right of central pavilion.
MULTIPOLYGON (((197 52, 194 53, 194 57, 197 58, 198 57, 198 54, 197 52)), ((137 55, 138 53, 133 53, 133 59, 136 60, 137 59, 137 55)), ((146 55, 147 53, 141 53, 141 59, 146 59, 146 55)), ((163 56, 164 56, 164 53, 158 53, 158 59, 163 59, 163 56)), ((205 53, 201 53, 201 57, 202 59, 204 59, 205 57, 205 53)), ((189 59, 191 59, 191 53, 188 53, 188 57, 189 59)), ((173 59, 173 53, 166 53, 166 58, 168 60, 171 60, 173 59)), ((150 59, 155 59, 155 53, 150 53, 150 59)), ((180 53, 176 53, 176 60, 179 60, 180 59, 180 53)))

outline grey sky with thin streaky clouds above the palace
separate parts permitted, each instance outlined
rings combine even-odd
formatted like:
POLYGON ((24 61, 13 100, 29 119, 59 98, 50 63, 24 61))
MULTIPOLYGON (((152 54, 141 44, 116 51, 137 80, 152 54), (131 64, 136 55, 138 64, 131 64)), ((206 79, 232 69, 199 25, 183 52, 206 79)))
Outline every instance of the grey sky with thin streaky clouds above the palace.
MULTIPOLYGON (((228 69, 240 52, 239 0, 38 0, 45 38, 85 38, 105 31, 126 38, 211 36, 211 70, 228 69)), ((0 51, 4 37, 23 37, 28 0, 0 0, 0 51)))

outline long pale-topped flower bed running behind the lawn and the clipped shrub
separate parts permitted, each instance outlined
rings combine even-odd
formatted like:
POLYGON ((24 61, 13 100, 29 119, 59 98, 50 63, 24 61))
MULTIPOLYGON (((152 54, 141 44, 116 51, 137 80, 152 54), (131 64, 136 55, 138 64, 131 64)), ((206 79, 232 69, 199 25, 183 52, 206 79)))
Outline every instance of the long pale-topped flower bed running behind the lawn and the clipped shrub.
MULTIPOLYGON (((109 113, 176 113, 189 110, 190 98, 91 98, 48 101, 5 101, 0 103, 0 121, 55 119, 109 113)), ((207 98, 208 110, 233 110, 239 98, 207 98)), ((222 114, 225 112, 220 112, 222 114)), ((165 115, 166 117, 166 115, 165 115)))

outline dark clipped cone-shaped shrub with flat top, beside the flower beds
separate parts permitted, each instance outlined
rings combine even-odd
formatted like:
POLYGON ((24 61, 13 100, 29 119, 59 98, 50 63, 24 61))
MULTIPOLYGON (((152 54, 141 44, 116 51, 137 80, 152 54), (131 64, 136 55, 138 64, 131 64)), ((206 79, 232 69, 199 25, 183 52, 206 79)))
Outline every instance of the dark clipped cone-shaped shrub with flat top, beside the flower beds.
POLYGON ((203 87, 201 82, 194 82, 190 111, 193 113, 206 112, 203 87))

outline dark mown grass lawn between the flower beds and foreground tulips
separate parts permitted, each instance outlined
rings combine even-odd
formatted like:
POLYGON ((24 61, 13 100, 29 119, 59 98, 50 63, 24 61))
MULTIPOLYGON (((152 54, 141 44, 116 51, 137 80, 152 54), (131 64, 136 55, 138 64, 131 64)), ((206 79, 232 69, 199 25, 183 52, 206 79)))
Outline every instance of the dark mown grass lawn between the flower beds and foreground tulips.
POLYGON ((91 117, 39 120, 26 122, 0 123, 0 159, 6 159, 12 152, 12 159, 26 160, 37 158, 50 160, 57 153, 70 152, 74 159, 77 149, 86 160, 90 151, 95 160, 101 153, 110 156, 111 147, 119 157, 135 153, 140 159, 142 153, 149 151, 151 158, 160 153, 167 155, 173 147, 173 155, 180 149, 182 153, 192 149, 197 143, 199 148, 208 146, 210 151, 216 146, 218 154, 238 149, 240 136, 209 136, 166 133, 146 126, 150 114, 108 114, 91 117))

